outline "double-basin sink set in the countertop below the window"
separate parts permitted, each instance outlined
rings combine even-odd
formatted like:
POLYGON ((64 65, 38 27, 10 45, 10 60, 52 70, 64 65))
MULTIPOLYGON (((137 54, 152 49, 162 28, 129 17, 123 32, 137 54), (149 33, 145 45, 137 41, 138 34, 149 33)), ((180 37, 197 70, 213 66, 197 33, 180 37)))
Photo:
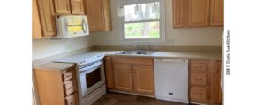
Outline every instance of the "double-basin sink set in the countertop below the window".
POLYGON ((144 50, 141 50, 141 51, 122 51, 122 52, 117 52, 117 54, 122 54, 122 55, 151 55, 153 54, 154 51, 144 51, 144 50))

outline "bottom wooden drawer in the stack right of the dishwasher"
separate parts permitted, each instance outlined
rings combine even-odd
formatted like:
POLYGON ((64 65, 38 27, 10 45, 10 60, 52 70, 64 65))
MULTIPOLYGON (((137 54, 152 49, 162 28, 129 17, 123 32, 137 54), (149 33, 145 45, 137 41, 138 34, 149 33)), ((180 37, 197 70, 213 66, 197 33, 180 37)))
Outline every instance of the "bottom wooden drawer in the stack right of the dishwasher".
POLYGON ((190 98, 207 100, 207 88, 192 87, 190 89, 190 98))

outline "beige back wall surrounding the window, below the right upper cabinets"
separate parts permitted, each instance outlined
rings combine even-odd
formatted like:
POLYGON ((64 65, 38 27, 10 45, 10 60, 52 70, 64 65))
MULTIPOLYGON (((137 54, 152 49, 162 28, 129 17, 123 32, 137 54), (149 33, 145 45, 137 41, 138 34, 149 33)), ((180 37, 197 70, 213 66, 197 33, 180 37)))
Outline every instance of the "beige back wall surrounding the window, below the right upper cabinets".
MULTIPOLYGON (((173 29, 171 5, 171 0, 165 0, 166 42, 144 43, 144 45, 222 45, 222 27, 173 29)), ((94 45, 129 45, 120 41, 117 21, 117 0, 111 0, 111 15, 113 31, 94 33, 94 45)))

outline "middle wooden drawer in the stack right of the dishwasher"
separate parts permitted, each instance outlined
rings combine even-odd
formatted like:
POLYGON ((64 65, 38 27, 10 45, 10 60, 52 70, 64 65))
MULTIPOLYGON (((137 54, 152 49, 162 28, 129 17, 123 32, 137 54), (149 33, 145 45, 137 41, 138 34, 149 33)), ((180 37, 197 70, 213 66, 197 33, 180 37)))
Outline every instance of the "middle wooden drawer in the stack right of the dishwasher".
POLYGON ((206 73, 191 73, 190 82, 193 85, 207 85, 206 73))

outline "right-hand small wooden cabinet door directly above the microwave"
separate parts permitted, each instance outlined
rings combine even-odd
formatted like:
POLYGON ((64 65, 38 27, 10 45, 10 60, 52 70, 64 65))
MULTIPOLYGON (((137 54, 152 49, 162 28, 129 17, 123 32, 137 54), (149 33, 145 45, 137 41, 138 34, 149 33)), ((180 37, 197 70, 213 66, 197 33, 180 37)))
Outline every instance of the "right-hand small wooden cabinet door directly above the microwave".
POLYGON ((72 14, 85 14, 83 0, 71 0, 72 14))

